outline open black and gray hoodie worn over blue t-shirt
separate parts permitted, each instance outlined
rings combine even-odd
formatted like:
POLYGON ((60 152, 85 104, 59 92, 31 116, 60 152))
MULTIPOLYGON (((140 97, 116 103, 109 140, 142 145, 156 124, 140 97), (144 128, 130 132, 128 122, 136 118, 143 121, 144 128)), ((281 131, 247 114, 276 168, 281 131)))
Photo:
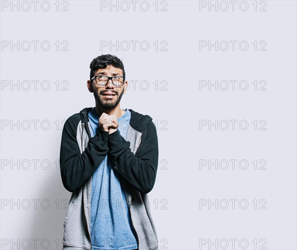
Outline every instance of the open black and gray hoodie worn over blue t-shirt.
POLYGON ((158 166, 158 140, 152 118, 129 109, 131 120, 126 140, 119 131, 109 135, 100 128, 91 137, 91 109, 84 108, 70 116, 62 132, 61 177, 64 187, 72 192, 64 220, 63 250, 92 249, 92 175, 106 154, 124 187, 139 250, 158 249, 148 200, 158 166))

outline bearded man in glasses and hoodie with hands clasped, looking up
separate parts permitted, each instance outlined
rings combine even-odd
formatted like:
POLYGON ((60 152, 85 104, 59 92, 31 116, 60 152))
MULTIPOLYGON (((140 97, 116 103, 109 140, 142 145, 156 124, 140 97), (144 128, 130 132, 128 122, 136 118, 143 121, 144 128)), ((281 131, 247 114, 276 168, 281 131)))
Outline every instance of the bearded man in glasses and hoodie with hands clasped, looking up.
POLYGON ((158 165, 155 125, 120 108, 128 82, 119 58, 98 56, 90 68, 96 107, 70 116, 62 132, 61 177, 72 192, 63 249, 158 249, 147 195, 158 165))

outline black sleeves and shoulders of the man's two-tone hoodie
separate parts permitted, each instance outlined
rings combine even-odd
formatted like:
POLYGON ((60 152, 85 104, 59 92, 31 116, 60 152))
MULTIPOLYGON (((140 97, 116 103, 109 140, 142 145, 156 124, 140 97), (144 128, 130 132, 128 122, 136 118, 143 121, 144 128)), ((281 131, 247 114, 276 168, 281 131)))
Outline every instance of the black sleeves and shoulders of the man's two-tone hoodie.
POLYGON ((130 142, 126 141, 117 130, 112 134, 98 128, 91 138, 88 126, 91 108, 84 108, 80 113, 70 116, 63 127, 60 170, 64 187, 69 192, 87 182, 108 153, 112 168, 123 179, 132 184, 139 192, 147 194, 154 186, 158 166, 157 132, 152 118, 132 109, 130 125, 143 133, 138 150, 134 154, 130 150, 130 142), (85 123, 90 141, 83 153, 80 152, 76 133, 78 124, 85 123))

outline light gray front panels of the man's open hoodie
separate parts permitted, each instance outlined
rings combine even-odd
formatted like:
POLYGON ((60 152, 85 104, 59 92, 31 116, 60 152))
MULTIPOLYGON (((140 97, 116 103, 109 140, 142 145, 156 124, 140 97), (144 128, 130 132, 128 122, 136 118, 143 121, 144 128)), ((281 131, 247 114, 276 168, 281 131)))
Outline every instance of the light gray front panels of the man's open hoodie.
MULTIPOLYGON (((81 153, 89 143, 85 123, 78 124, 77 143, 81 153)), ((145 131, 144 131, 145 132, 145 131)), ((126 141, 135 154, 142 137, 141 132, 128 125, 126 141)), ((148 194, 142 194, 128 182, 124 181, 126 201, 131 220, 137 234, 139 250, 157 250, 158 240, 152 221, 148 194)), ((92 176, 79 189, 72 193, 68 211, 64 220, 63 250, 91 250, 91 190, 92 176)))

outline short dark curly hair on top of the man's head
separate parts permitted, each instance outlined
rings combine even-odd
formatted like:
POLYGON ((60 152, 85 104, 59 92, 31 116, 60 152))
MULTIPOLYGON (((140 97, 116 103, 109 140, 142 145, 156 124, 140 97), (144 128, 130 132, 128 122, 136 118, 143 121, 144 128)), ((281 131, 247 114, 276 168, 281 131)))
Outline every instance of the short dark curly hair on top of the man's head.
POLYGON ((90 69, 91 69, 90 79, 95 75, 95 72, 98 69, 105 69, 107 67, 107 65, 111 65, 115 68, 121 69, 123 71, 124 79, 126 78, 124 64, 123 64, 122 60, 120 60, 115 55, 102 54, 102 55, 99 55, 96 58, 94 58, 90 64, 90 69))

